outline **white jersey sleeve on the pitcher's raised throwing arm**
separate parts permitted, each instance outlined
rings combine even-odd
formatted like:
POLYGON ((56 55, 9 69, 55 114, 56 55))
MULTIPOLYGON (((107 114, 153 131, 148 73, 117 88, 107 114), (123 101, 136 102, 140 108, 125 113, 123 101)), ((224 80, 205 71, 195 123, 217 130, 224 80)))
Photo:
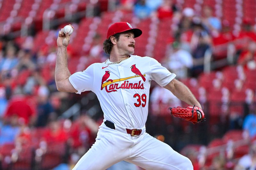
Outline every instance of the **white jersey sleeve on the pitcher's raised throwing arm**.
POLYGON ((77 94, 85 91, 93 91, 94 85, 94 64, 84 71, 79 71, 69 77, 69 82, 77 90, 77 94))

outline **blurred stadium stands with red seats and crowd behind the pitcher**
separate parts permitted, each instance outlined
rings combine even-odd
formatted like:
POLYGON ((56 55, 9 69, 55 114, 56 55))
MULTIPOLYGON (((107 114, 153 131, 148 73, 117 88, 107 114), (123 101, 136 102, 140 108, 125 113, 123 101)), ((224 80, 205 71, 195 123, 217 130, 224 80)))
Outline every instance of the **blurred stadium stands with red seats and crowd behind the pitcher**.
POLYGON ((75 27, 74 73, 108 58, 102 42, 117 21, 142 29, 135 55, 175 73, 206 114, 174 119, 168 108, 186 104, 152 82, 148 133, 195 170, 255 169, 255 11, 255 0, 0 0, 0 169, 71 169, 91 147, 103 113, 92 92, 57 91, 57 35, 75 27))

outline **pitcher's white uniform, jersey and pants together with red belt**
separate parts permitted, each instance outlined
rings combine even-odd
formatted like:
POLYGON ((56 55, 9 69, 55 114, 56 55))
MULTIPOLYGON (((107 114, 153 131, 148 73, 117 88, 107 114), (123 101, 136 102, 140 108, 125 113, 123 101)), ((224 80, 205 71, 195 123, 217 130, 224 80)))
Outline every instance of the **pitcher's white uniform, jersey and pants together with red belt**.
POLYGON ((104 113, 95 144, 74 170, 104 170, 122 160, 147 170, 193 170, 188 158, 145 128, 151 81, 165 86, 175 76, 155 59, 137 55, 116 64, 94 63, 71 75, 77 93, 94 92, 104 113))

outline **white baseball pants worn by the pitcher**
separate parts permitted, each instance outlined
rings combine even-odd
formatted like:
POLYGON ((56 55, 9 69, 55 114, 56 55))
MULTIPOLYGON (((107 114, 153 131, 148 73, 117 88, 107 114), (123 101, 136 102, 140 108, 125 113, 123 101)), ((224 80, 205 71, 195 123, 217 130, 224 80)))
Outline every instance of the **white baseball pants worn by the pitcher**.
POLYGON ((96 142, 77 162, 73 170, 105 170, 125 160, 147 170, 193 170, 191 161, 168 144, 145 132, 139 136, 126 133, 124 127, 100 125, 96 142))

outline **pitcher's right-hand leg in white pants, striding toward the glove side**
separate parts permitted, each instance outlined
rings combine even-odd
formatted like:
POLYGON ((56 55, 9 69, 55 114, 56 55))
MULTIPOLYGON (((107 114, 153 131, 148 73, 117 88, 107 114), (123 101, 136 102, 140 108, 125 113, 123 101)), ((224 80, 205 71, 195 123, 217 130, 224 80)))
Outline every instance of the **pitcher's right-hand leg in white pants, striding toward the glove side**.
POLYGON ((174 151, 168 144, 148 133, 131 149, 131 157, 125 161, 147 170, 193 170, 191 161, 174 151))

